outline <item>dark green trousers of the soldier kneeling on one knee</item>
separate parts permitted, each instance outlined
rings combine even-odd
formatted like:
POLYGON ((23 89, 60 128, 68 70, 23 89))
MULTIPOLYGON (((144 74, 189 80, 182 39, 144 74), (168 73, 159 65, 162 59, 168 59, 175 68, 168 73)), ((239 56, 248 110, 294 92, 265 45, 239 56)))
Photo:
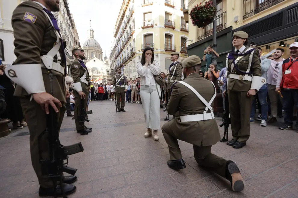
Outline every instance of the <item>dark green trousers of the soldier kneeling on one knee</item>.
MULTIPOLYGON (((182 154, 179 148, 177 137, 175 136, 169 125, 163 125, 162 131, 163 137, 165 138, 166 143, 169 147, 170 160, 182 159, 182 154)), ((183 131, 181 131, 181 133, 183 133, 183 131)), ((193 145, 193 147, 194 158, 200 166, 208 168, 212 170, 214 173, 226 178, 225 170, 227 160, 212 154, 212 146, 193 145)))

